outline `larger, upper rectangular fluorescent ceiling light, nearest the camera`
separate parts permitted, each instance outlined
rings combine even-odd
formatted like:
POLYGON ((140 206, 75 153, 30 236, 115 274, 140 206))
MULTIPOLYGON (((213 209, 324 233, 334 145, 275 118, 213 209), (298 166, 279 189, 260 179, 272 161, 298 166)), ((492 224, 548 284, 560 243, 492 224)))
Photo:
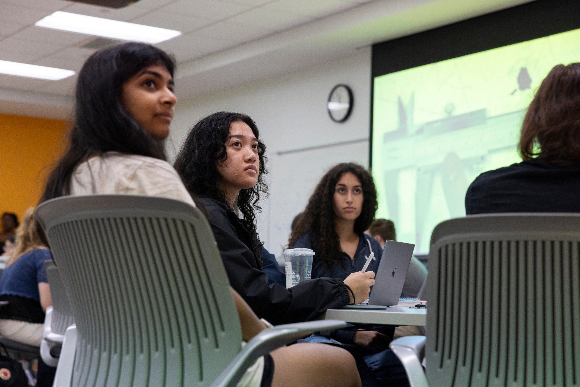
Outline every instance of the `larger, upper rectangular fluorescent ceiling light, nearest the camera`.
POLYGON ((78 32, 97 37, 122 39, 157 44, 181 35, 181 31, 167 30, 143 24, 127 23, 102 17, 56 11, 34 23, 37 27, 78 32))

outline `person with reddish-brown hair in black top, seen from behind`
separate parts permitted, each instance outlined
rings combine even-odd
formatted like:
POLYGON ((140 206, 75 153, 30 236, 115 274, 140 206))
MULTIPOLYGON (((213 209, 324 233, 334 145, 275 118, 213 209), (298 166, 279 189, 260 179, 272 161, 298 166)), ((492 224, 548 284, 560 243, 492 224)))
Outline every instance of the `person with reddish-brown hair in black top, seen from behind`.
POLYGON ((528 107, 522 162, 477 176, 465 212, 580 212, 580 63, 558 64, 528 107))

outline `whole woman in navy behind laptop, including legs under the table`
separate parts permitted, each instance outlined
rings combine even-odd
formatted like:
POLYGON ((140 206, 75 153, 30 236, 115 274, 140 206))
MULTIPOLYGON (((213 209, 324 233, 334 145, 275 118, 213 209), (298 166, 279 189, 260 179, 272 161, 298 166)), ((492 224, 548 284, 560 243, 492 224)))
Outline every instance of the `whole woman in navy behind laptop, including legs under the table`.
MULTIPOLYGON (((361 165, 335 165, 314 189, 314 193, 293 229, 291 248, 314 250, 312 277, 346 278, 360 272, 371 253, 368 269, 378 269, 383 249, 365 230, 375 218, 375 183, 361 165)), ((313 335, 306 342, 345 344, 365 372, 392 386, 408 385, 404 368, 389 349, 393 328, 377 330, 333 330, 329 335, 313 335), (355 345, 355 346, 353 346, 355 345), (368 368, 368 370, 367 370, 368 368)))

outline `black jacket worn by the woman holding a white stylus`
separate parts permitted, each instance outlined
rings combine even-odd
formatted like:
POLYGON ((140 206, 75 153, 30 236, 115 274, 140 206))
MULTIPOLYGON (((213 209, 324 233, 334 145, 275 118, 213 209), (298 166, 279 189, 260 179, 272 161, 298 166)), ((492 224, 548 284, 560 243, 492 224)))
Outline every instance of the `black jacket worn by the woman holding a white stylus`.
POLYGON ((349 291, 340 279, 318 278, 290 289, 269 285, 253 253, 251 236, 235 212, 211 198, 200 197, 197 202, 208 215, 231 287, 258 317, 274 325, 296 323, 349 303, 349 291))

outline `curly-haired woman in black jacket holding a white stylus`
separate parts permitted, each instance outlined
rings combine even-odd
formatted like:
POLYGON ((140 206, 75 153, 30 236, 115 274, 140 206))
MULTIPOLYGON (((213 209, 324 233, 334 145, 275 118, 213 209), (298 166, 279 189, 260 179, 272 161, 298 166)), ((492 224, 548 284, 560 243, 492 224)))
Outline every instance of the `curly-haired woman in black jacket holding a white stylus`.
POLYGON ((231 287, 274 325, 313 320, 327 309, 364 301, 373 272, 353 273, 344 281, 303 281, 290 289, 267 283, 255 222, 259 195, 267 192, 265 151, 250 117, 223 111, 195 124, 175 162, 187 189, 205 207, 231 287))

